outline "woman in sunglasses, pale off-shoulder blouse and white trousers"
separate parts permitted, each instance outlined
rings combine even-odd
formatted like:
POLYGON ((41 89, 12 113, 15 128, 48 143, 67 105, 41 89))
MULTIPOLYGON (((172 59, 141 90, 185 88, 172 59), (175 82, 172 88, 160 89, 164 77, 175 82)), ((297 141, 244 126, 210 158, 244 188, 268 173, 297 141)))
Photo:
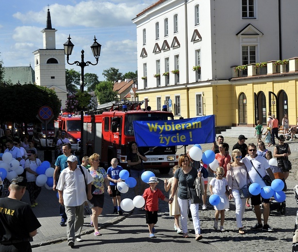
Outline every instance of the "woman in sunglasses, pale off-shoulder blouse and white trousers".
POLYGON ((231 163, 231 170, 227 172, 227 180, 229 186, 229 199, 234 198, 235 206, 236 206, 236 223, 237 228, 239 229, 239 234, 243 235, 245 232, 243 231, 242 218, 245 210, 246 199, 240 198, 239 190, 248 185, 250 182, 248 173, 246 171, 246 167, 243 163, 240 163, 241 160, 241 151, 238 149, 233 150, 232 157, 234 158, 234 163, 231 163))

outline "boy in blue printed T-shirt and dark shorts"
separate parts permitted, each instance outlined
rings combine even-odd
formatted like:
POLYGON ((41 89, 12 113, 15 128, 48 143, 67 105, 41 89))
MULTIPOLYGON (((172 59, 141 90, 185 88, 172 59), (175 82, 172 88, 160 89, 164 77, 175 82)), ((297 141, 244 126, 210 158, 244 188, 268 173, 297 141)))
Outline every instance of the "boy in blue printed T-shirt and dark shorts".
MULTIPOLYGON (((121 182, 119 173, 123 170, 123 168, 120 165, 118 165, 117 158, 112 158, 110 163, 111 163, 111 166, 108 168, 107 177, 110 180, 110 187, 112 190, 110 197, 112 197, 112 201, 113 201, 113 205, 114 205, 113 214, 118 213, 119 215, 123 215, 123 212, 120 207, 121 192, 117 189, 117 183, 121 182), (117 204, 118 204, 118 207, 117 207, 117 204)), ((128 173, 128 175, 129 175, 129 173, 128 173)))

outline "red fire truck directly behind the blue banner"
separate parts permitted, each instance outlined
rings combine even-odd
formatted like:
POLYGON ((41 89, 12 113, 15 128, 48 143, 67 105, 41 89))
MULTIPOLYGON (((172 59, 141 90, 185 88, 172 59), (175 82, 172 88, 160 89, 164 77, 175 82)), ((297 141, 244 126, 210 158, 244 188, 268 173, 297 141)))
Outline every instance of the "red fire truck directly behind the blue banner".
MULTIPOLYGON (((88 156, 93 153, 100 154, 101 165, 104 166, 110 166, 111 159, 116 157, 119 165, 127 167, 128 143, 135 141, 133 121, 173 120, 173 114, 168 111, 141 110, 140 104, 136 106, 133 102, 126 104, 125 111, 122 110, 122 105, 123 103, 114 104, 111 111, 84 116, 84 139, 87 141, 84 152, 88 156), (114 109, 115 106, 118 106, 118 110, 114 109)), ((169 173, 171 167, 177 164, 176 146, 139 147, 139 149, 148 158, 144 162, 147 169, 169 173)))

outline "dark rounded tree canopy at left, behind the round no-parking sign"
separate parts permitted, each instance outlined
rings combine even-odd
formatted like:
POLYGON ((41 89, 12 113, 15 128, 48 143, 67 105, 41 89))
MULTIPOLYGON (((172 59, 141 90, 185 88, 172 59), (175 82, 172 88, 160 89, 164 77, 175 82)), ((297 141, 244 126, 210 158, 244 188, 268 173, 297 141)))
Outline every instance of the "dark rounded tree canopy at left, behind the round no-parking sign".
POLYGON ((0 97, 1 121, 39 122, 36 115, 42 106, 49 106, 53 110, 54 119, 61 111, 61 101, 55 91, 35 84, 0 86, 0 97))

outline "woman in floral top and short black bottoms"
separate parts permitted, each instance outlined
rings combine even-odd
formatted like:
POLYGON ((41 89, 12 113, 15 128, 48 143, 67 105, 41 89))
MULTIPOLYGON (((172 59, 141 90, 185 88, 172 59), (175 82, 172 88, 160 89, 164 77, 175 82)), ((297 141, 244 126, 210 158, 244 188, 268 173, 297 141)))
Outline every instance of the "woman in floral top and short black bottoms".
POLYGON ((89 207, 92 210, 92 215, 90 215, 90 224, 94 226, 94 236, 101 236, 101 234, 98 232, 98 216, 101 214, 102 208, 104 206, 105 185, 108 188, 109 194, 112 193, 112 190, 105 169, 99 167, 99 154, 92 154, 89 157, 89 163, 91 165, 91 167, 89 168, 89 172, 94 179, 91 189, 93 197, 91 200, 89 200, 89 202, 91 203, 89 207))

